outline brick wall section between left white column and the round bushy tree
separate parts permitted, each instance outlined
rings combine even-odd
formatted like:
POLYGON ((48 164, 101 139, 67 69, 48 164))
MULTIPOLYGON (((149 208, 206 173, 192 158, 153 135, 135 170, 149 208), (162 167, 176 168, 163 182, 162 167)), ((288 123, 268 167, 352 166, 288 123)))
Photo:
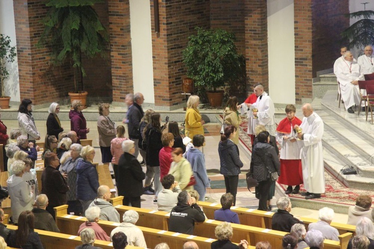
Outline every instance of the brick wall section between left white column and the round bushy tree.
POLYGON ((209 26, 208 0, 159 0, 160 33, 155 32, 154 1, 151 1, 155 106, 173 107, 184 102, 182 80, 186 77, 182 51, 194 27, 209 26))

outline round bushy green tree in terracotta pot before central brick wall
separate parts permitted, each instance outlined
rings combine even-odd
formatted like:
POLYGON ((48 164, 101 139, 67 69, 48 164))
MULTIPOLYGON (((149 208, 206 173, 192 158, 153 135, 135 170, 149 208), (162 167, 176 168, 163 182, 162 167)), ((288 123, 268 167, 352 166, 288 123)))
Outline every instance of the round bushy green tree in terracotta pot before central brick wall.
POLYGON ((183 51, 187 76, 200 91, 208 90, 210 106, 221 106, 224 91, 217 89, 242 78, 244 58, 237 52, 233 33, 223 29, 195 29, 197 34, 189 36, 183 51))

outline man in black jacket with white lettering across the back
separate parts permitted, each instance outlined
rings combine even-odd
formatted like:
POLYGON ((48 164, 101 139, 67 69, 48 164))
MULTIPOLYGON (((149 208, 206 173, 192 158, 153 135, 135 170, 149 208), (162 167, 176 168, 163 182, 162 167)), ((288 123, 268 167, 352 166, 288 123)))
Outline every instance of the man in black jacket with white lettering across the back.
POLYGON ((205 221, 204 212, 196 204, 195 198, 187 191, 179 193, 178 204, 170 213, 169 231, 192 235, 195 222, 203 221, 205 221))

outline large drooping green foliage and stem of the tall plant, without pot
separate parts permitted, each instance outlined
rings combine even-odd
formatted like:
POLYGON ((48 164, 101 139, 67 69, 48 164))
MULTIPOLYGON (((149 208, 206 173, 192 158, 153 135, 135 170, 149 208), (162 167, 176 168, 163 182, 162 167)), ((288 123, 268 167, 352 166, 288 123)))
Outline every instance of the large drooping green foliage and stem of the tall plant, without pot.
MULTIPOLYGON (((47 0, 50 9, 43 19, 44 31, 39 45, 50 45, 53 64, 69 62, 74 68, 74 87, 78 93, 79 74, 86 76, 82 54, 89 58, 105 57, 108 33, 93 5, 102 0, 47 0)), ((83 77, 81 77, 83 80, 83 77)), ((83 91, 83 83, 81 84, 83 91)))

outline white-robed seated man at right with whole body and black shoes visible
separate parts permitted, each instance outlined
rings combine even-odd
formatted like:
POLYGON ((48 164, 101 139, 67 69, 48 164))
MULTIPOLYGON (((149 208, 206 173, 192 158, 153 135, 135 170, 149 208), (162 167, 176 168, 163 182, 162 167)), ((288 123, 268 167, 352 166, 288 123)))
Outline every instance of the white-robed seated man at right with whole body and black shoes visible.
MULTIPOLYGON (((357 62, 353 61, 351 51, 343 55, 344 62, 339 63, 335 76, 340 83, 340 90, 344 106, 349 113, 355 113, 355 105, 360 106, 359 80, 365 80, 364 71, 357 62)), ((365 94, 365 93, 364 93, 365 94)), ((362 104, 365 107, 365 102, 362 104)))

